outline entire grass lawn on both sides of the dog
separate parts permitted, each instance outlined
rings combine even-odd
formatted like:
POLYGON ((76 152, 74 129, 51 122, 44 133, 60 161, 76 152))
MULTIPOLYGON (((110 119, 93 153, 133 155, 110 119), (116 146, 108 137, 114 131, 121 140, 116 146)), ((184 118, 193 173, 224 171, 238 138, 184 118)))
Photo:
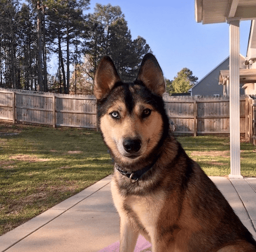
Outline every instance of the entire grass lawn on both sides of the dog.
MULTIPOLYGON (((207 175, 230 173, 229 138, 179 137, 207 175)), ((112 173, 101 134, 0 123, 0 235, 112 173)), ((241 143, 241 170, 256 176, 256 146, 241 143)))

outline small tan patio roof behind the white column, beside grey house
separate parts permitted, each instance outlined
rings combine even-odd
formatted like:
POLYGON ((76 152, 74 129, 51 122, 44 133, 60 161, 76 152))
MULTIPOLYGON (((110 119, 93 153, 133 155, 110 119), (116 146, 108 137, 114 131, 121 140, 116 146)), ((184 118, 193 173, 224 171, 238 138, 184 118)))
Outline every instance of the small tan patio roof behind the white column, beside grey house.
MULTIPOLYGON (((255 83, 256 82, 256 69, 240 69, 240 83, 255 83)), ((219 85, 226 84, 229 79, 229 70, 221 70, 219 74, 219 85)))

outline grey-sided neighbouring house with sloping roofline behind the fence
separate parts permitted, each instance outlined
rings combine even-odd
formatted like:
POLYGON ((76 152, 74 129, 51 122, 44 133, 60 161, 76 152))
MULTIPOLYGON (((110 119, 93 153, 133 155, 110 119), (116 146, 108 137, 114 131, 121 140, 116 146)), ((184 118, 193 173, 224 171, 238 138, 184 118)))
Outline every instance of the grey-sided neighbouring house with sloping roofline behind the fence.
MULTIPOLYGON (((240 68, 246 68, 243 65, 244 62, 245 57, 240 54, 240 68)), ((219 73, 225 69, 229 69, 229 57, 225 58, 216 68, 191 87, 189 90, 191 96, 222 96, 223 86, 219 85, 219 73)), ((240 94, 243 95, 244 93, 244 90, 240 89, 240 94)))

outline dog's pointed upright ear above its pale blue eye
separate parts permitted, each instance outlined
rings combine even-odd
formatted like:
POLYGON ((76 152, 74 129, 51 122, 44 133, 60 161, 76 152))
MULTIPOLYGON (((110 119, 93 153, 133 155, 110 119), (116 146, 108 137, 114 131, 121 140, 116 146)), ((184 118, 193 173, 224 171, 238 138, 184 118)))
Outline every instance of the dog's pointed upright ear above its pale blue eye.
POLYGON ((94 95, 97 99, 103 98, 117 83, 121 81, 114 62, 110 57, 104 56, 96 70, 94 78, 94 95))

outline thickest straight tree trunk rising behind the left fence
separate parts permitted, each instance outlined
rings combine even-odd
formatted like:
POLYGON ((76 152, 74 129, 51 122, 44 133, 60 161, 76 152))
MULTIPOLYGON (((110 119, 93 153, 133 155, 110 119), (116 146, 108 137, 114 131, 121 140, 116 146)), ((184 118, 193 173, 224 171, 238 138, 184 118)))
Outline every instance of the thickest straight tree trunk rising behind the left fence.
POLYGON ((38 85, 39 91, 44 91, 43 87, 43 75, 42 75, 42 10, 41 10, 41 2, 37 1, 37 50, 38 50, 38 85))

